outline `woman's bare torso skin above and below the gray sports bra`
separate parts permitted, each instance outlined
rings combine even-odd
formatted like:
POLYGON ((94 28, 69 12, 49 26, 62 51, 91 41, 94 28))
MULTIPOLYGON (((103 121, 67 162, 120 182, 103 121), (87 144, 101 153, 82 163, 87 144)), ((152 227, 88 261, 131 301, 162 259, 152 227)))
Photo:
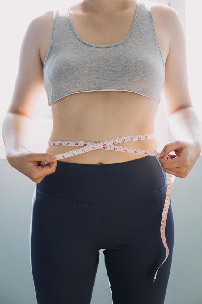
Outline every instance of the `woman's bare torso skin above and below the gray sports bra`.
MULTIPOLYGON (((117 13, 117 16, 93 16, 83 14, 78 3, 70 8, 74 28, 86 42, 108 45, 124 39, 132 26, 136 1, 130 8, 117 13)), ((152 7, 158 42, 164 63, 168 55, 168 40, 161 26, 158 7, 152 7)), ((44 63, 51 40, 53 12, 48 15, 47 34, 41 43, 40 57, 44 63)), ((82 43, 82 42, 81 42, 82 43)), ((160 54, 159 54, 160 56, 160 54)), ((101 142, 112 138, 136 134, 154 133, 155 116, 158 103, 149 97, 125 91, 81 92, 65 96, 51 105, 53 128, 49 140, 78 140, 101 142)), ((133 147, 155 151, 156 139, 119 143, 124 147, 133 147)), ((76 147, 80 148, 80 147, 76 147)), ((46 152, 61 154, 75 150, 74 146, 51 146, 46 152)), ((120 163, 145 157, 142 154, 124 153, 97 149, 61 159, 60 161, 84 164, 120 163)))

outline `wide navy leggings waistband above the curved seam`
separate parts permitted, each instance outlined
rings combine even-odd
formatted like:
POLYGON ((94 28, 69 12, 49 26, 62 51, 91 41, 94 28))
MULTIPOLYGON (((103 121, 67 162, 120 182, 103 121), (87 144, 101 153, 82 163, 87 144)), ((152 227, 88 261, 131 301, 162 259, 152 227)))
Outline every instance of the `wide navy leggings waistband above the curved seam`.
POLYGON ((56 171, 36 184, 46 195, 90 204, 120 203, 162 191, 166 173, 156 156, 104 165, 57 160, 56 171))

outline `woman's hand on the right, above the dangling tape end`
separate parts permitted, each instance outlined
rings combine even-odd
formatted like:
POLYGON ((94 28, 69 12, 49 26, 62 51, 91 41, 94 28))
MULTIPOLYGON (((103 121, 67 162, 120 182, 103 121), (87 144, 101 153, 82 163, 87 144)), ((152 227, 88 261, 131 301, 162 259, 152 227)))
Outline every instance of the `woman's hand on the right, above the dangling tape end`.
POLYGON ((177 177, 185 178, 199 158, 201 145, 198 141, 174 141, 165 145, 163 150, 165 153, 161 155, 162 157, 159 156, 159 162, 163 170, 177 177), (169 154, 172 151, 177 156, 169 154), (164 159, 166 155, 169 155, 172 159, 164 159))

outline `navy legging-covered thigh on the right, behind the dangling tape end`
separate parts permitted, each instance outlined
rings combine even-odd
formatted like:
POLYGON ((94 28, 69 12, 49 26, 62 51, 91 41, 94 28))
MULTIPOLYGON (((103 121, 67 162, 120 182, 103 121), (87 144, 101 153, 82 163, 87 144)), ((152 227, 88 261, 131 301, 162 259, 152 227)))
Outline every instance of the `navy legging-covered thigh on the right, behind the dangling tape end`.
POLYGON ((165 229, 169 255, 158 269, 166 257, 160 234, 165 198, 166 189, 104 206, 103 253, 113 304, 164 303, 174 245, 170 202, 165 229))

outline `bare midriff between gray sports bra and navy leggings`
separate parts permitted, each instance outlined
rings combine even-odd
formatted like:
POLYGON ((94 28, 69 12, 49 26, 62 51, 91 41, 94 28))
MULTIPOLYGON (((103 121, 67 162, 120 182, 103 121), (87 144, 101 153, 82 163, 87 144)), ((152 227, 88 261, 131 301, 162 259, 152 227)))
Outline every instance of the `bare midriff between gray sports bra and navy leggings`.
MULTIPOLYGON (((52 104, 53 128, 50 140, 101 142, 116 137, 154 133, 156 101, 133 92, 82 92, 66 96, 52 104)), ((156 139, 116 145, 155 151, 156 139)), ((51 146, 46 152, 61 154, 79 146, 51 146)), ((85 164, 121 163, 142 154, 97 149, 60 161, 85 164)))

